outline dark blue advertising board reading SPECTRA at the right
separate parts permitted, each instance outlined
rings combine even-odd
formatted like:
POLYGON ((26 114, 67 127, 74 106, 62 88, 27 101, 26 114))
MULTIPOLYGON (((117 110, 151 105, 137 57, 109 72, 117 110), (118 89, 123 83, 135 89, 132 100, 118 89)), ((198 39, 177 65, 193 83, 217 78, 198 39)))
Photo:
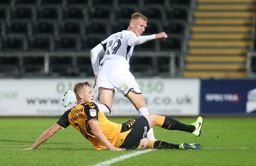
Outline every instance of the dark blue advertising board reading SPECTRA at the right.
POLYGON ((201 114, 256 115, 256 80, 202 80, 201 114))

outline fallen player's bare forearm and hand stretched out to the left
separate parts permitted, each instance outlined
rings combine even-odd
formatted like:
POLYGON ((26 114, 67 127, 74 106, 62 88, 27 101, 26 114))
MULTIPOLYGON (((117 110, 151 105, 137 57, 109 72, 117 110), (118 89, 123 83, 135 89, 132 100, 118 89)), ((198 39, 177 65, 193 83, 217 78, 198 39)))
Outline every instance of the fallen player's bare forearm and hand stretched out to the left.
POLYGON ((51 128, 47 129, 42 135, 36 140, 35 144, 31 147, 24 148, 24 150, 33 150, 43 144, 46 140, 50 139, 54 133, 58 132, 61 127, 58 124, 54 124, 51 128))

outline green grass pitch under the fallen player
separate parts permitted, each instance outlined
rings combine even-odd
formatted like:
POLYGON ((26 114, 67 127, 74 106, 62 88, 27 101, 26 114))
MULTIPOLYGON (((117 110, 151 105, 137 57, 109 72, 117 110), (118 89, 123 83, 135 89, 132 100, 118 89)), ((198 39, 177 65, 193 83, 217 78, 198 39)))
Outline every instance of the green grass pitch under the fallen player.
MULTIPOLYGON (((129 117, 109 117, 123 123, 129 117)), ((182 123, 192 123, 196 117, 175 117, 182 123)), ((24 151, 58 117, 1 117, 0 165, 95 165, 136 150, 97 151, 72 126, 60 130, 38 149, 24 151)), ((154 127, 158 140, 175 144, 199 142, 200 151, 156 150, 133 156, 111 165, 256 165, 255 117, 204 117, 203 134, 164 130, 154 127)), ((137 150, 138 151, 138 150, 137 150)))

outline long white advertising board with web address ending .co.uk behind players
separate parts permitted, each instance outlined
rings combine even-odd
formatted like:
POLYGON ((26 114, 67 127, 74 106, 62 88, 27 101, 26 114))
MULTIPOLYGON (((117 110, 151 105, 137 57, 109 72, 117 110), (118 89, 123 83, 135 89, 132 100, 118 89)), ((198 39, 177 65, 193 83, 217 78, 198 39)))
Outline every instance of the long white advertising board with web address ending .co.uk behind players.
MULTIPOLYGON (((93 79, 86 79, 93 86, 93 79)), ((60 116, 66 89, 84 79, 0 79, 0 116, 60 116)), ((150 113, 164 116, 199 114, 199 79, 138 79, 150 113)), ((95 93, 95 102, 96 92, 95 93)), ((114 97, 111 116, 138 116, 121 93, 114 97)))

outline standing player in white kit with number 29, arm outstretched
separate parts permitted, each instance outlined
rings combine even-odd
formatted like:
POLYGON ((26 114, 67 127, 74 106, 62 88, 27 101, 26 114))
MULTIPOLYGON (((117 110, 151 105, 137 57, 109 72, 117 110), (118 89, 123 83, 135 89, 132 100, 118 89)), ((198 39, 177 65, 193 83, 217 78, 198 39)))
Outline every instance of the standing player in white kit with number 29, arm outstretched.
MULTIPOLYGON (((147 20, 147 17, 141 13, 133 13, 127 30, 111 34, 90 51, 95 75, 93 88, 96 87, 97 89, 100 103, 107 105, 110 110, 115 92, 120 91, 130 100, 140 116, 149 114, 141 89, 129 70, 129 60, 132 56, 134 45, 140 45, 157 38, 167 38, 168 36, 164 32, 141 36, 147 27, 147 20), (104 57, 99 62, 100 56, 104 57)), ((69 100, 65 101, 69 102, 69 100)), ((106 111, 109 111, 109 109, 106 109, 106 111)), ((108 115, 110 112, 104 112, 104 114, 108 115)), ((147 138, 156 140, 152 129, 148 131, 147 138)))

